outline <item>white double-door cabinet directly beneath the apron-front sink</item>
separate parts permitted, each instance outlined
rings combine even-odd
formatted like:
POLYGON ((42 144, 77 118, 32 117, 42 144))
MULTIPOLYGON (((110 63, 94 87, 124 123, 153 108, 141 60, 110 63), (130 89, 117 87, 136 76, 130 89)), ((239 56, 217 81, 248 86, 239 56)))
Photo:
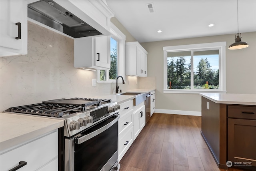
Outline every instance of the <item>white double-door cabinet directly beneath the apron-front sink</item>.
POLYGON ((146 122, 146 112, 145 112, 145 105, 143 104, 140 108, 133 112, 133 127, 134 127, 134 137, 138 137, 140 131, 145 126, 146 122))

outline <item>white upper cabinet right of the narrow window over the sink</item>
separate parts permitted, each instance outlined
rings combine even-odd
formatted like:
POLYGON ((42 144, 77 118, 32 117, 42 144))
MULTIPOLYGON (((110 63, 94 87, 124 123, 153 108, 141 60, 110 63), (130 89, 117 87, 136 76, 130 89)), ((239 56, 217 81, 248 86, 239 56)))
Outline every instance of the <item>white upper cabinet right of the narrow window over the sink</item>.
POLYGON ((147 54, 148 52, 138 42, 126 43, 126 75, 148 76, 147 54))

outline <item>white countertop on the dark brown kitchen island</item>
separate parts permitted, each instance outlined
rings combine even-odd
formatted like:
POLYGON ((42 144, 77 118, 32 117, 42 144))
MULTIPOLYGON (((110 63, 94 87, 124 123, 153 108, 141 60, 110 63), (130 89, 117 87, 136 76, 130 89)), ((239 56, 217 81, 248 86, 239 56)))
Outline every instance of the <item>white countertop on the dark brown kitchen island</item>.
POLYGON ((215 103, 256 105, 256 94, 199 93, 199 95, 215 103))

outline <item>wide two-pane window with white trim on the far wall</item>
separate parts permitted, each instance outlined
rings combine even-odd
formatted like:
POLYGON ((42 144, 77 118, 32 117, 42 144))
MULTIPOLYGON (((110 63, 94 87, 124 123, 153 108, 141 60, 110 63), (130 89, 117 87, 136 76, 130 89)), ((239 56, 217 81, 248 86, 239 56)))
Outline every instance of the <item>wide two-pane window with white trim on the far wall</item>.
POLYGON ((167 46, 164 93, 226 91, 226 42, 167 46))

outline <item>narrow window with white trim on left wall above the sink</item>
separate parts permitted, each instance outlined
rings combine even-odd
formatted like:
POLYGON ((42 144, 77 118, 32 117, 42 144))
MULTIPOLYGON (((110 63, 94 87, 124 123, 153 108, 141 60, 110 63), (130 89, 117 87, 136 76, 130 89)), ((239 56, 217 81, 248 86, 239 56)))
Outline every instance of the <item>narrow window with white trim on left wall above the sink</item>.
POLYGON ((124 46, 125 35, 111 23, 110 70, 98 71, 98 82, 116 82, 117 76, 125 79, 124 46))

